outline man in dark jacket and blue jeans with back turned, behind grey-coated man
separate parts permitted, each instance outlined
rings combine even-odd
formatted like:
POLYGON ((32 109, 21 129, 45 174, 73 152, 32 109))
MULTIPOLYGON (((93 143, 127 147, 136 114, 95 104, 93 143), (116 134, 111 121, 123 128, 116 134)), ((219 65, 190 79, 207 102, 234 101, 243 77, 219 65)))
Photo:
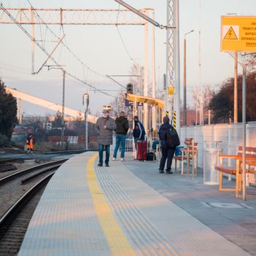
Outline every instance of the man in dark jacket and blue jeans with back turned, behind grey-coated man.
POLYGON ((121 144, 121 161, 124 161, 125 139, 129 129, 129 122, 125 117, 124 111, 121 111, 119 117, 116 118, 116 148, 113 154, 113 161, 116 161, 117 151, 121 144))

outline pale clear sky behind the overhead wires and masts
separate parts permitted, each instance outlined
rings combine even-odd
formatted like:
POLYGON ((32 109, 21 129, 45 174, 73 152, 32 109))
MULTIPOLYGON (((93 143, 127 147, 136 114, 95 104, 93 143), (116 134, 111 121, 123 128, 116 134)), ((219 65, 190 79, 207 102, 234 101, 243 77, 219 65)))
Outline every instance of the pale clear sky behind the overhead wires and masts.
MULTIPOLYGON (((167 1, 163 0, 126 0, 127 4, 137 9, 154 8, 158 23, 166 24, 167 1)), ((73 1, 35 1, 35 0, 0 0, 4 7, 34 8, 83 8, 83 9, 124 9, 113 0, 73 0, 73 1)), ((224 80, 233 76, 233 59, 228 53, 220 51, 220 30, 222 15, 256 15, 255 0, 179 0, 179 28, 180 28, 180 69, 181 69, 181 99, 183 97, 183 58, 184 34, 187 35, 187 104, 192 105, 192 94, 196 87, 211 86, 218 89, 224 80), (199 34, 201 35, 199 37, 199 34), (199 69, 199 60, 201 69, 199 69)), ((41 17, 42 18, 42 17, 41 17)), ((131 67, 135 62, 144 64, 144 29, 143 26, 36 26, 35 37, 48 53, 56 45, 56 37, 65 34, 63 42, 68 46, 59 45, 53 53, 54 59, 67 68, 69 72, 83 82, 103 89, 112 97, 93 91, 89 88, 92 113, 109 105, 122 89, 118 83, 126 86, 132 74, 131 67), (78 56, 75 59, 74 56, 78 56), (106 75, 124 75, 112 77, 118 83, 106 79, 106 75)), ((23 26, 31 33, 31 26, 23 26)), ((42 99, 61 104, 62 100, 62 72, 60 69, 43 67, 37 75, 31 75, 31 42, 29 37, 15 24, 1 24, 0 39, 0 77, 11 88, 32 94, 42 99)), ((149 26, 149 78, 151 81, 151 31, 149 26)), ((155 29, 156 52, 156 81, 157 90, 163 89, 163 74, 166 61, 166 31, 155 29)), ((46 60, 47 56, 35 46, 35 71, 46 60)), ((47 64, 53 64, 48 61, 47 64)), ((238 70, 241 72, 241 69, 238 70)), ((76 110, 83 110, 82 95, 85 84, 67 75, 65 80, 65 105, 76 110)), ((23 102, 23 113, 27 115, 50 113, 46 108, 23 102)))

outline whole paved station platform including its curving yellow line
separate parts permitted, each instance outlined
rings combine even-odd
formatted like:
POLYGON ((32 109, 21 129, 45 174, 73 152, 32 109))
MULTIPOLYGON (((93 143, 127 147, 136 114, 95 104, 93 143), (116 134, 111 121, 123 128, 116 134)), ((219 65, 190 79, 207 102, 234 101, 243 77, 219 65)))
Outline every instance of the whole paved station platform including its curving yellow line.
POLYGON ((158 166, 72 157, 49 181, 18 255, 256 255, 255 188, 243 201, 204 185, 200 172, 158 166))

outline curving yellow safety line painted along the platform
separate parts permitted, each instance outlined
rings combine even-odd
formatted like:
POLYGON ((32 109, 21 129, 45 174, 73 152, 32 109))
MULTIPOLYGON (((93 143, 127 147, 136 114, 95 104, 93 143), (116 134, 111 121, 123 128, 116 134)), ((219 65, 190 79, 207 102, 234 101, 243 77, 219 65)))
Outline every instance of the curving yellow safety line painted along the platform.
POLYGON ((118 222, 108 206, 105 195, 99 187, 99 182, 94 172, 94 161, 96 158, 97 154, 89 159, 86 165, 86 178, 99 223, 113 255, 135 255, 135 251, 129 244, 123 230, 121 230, 121 227, 118 225, 118 222))

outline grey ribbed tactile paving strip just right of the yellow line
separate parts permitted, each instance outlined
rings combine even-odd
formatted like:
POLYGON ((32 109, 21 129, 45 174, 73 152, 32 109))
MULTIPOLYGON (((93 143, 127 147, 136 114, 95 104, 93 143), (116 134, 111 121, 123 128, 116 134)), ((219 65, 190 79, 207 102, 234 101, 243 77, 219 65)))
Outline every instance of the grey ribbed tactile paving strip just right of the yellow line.
POLYGON ((128 195, 119 187, 108 171, 108 167, 94 165, 102 190, 113 206, 121 225, 125 227, 129 238, 133 241, 141 255, 178 255, 176 249, 167 243, 158 230, 136 208, 128 195))

